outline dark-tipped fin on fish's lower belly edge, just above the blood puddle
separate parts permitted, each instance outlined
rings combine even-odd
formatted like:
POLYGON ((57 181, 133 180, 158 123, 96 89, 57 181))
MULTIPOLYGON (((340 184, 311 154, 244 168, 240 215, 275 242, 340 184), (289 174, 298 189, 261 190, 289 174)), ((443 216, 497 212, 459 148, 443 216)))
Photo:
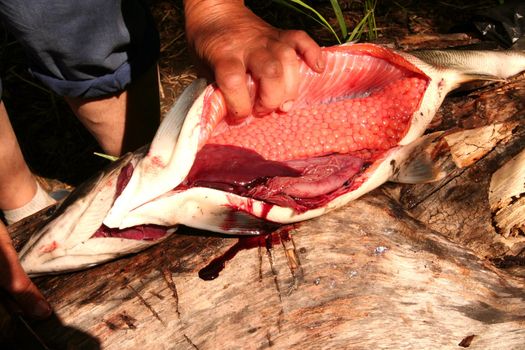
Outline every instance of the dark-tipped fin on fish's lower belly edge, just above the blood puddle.
POLYGON ((181 224, 241 236, 270 233, 280 227, 277 223, 230 208, 220 213, 201 216, 198 222, 181 222, 181 224))

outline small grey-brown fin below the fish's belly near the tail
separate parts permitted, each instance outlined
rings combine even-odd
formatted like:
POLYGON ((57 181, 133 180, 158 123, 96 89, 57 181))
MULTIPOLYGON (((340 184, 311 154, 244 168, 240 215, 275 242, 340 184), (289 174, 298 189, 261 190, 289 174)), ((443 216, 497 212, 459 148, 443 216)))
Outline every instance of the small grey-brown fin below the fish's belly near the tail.
POLYGON ((446 173, 432 160, 427 152, 418 152, 415 153, 414 157, 409 158, 396 168, 389 181, 418 184, 439 181, 445 176, 446 173))

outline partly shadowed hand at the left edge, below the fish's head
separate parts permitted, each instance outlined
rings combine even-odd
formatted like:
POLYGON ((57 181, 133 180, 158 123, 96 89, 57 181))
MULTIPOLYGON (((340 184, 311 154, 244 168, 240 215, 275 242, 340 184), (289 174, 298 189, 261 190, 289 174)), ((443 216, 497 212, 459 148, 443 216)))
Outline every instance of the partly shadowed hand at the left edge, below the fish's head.
MULTIPOLYGON (((51 315, 51 307, 31 282, 18 261, 7 228, 0 221, 0 288, 14 299, 22 312, 35 319, 51 315)), ((1 294, 0 294, 1 295, 1 294)), ((11 300, 5 302, 10 303, 11 300)))

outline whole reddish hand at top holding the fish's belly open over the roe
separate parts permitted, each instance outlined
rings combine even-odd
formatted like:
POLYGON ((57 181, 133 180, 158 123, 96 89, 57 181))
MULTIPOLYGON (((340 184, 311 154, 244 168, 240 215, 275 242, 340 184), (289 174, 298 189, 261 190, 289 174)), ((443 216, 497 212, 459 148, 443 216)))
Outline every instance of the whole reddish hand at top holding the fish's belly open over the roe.
POLYGON ((243 1, 186 0, 186 34, 214 71, 230 114, 242 118, 291 109, 298 94, 299 64, 324 69, 321 48, 305 32, 272 27, 243 1), (247 74, 256 85, 251 96, 247 74))

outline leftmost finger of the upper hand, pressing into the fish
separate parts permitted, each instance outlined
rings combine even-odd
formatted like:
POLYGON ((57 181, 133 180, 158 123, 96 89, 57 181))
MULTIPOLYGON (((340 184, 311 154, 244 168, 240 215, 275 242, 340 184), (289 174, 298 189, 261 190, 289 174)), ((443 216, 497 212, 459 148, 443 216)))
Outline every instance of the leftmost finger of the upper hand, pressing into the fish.
POLYGON ((215 63, 214 71, 215 80, 224 95, 230 114, 235 118, 250 115, 252 101, 244 64, 236 58, 221 59, 215 63))

